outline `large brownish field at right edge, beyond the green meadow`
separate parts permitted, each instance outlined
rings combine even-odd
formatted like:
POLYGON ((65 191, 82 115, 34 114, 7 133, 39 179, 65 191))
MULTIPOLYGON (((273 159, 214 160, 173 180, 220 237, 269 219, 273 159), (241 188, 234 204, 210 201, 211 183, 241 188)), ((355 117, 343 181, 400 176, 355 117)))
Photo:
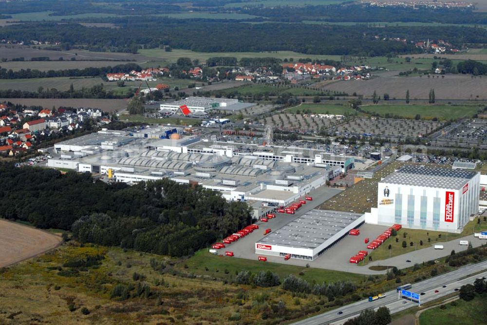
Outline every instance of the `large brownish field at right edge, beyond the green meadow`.
POLYGON ((440 75, 431 75, 430 78, 380 76, 371 80, 334 82, 321 89, 349 94, 356 92, 367 98, 372 97, 374 90, 379 96, 389 93, 391 98, 405 98, 409 89, 411 99, 428 99, 430 90, 434 89, 436 100, 486 100, 487 78, 461 74, 448 74, 444 78, 440 75))

